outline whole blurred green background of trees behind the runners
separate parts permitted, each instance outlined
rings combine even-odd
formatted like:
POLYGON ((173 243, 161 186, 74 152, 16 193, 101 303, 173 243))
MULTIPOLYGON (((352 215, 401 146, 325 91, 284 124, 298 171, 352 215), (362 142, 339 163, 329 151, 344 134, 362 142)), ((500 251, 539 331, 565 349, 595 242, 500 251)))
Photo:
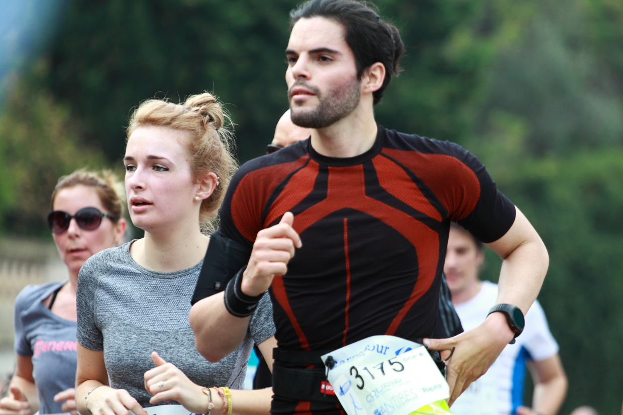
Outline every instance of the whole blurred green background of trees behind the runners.
MULTIPOLYGON (((407 47, 378 121, 457 142, 485 163, 549 249, 539 299, 569 376, 561 414, 583 404, 619 413, 623 1, 375 2, 407 47)), ((2 370, 14 296, 64 277, 45 225, 58 177, 84 166, 122 176, 133 107, 204 90, 227 104, 239 161, 264 154, 287 110, 296 4, 0 0, 2 370)), ((497 281, 499 267, 488 253, 485 277, 497 281)))

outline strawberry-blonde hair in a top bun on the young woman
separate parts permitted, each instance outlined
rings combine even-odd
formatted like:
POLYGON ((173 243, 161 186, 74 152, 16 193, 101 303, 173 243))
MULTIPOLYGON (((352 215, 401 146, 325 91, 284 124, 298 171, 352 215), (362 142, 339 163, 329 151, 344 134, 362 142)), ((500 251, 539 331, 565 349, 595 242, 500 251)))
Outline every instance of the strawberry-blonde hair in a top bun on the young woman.
POLYGON ((139 127, 157 126, 185 131, 188 139, 183 143, 191 156, 189 160, 193 179, 214 172, 219 184, 209 198, 202 200, 199 223, 202 231, 216 229, 217 213, 229 180, 237 169, 232 156, 232 134, 224 126, 231 119, 221 103, 211 93, 191 95, 183 104, 164 100, 146 100, 136 108, 130 118, 127 137, 139 127))

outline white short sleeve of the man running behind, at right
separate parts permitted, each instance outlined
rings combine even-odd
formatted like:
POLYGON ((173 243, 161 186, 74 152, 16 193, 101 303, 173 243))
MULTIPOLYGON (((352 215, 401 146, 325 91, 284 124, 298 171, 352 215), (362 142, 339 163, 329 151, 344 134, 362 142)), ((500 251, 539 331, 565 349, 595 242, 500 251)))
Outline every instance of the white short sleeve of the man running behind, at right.
POLYGON ((528 350, 532 360, 541 361, 558 353, 558 343, 549 331, 545 312, 535 301, 526 314, 526 327, 518 340, 528 350), (521 338, 523 337, 523 338, 521 338))

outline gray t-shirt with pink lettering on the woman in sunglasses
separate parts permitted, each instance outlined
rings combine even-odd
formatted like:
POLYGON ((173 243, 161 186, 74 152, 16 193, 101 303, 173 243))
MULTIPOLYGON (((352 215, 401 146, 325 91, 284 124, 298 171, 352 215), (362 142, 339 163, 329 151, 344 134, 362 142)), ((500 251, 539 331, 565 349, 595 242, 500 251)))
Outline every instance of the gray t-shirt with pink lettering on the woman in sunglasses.
POLYGON ((51 312, 42 301, 67 281, 27 286, 15 299, 15 352, 32 358, 39 413, 61 413, 54 395, 73 388, 76 378, 76 322, 51 312))

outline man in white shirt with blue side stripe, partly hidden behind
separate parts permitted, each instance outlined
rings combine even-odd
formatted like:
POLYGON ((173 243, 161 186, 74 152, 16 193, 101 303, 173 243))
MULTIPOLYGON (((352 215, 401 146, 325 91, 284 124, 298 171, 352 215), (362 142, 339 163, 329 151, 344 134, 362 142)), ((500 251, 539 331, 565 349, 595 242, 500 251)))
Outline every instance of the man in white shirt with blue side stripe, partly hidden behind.
MULTIPOLYGON (((495 305, 498 286, 478 279, 483 245, 452 223, 444 273, 452 304, 464 329, 480 325, 495 305)), ((558 344, 549 332, 545 313, 535 301, 525 316, 523 333, 509 344, 487 373, 457 398, 450 410, 457 415, 554 415, 563 403, 567 378, 558 356, 558 344), (523 406, 525 366, 535 384, 532 407, 523 406)))

